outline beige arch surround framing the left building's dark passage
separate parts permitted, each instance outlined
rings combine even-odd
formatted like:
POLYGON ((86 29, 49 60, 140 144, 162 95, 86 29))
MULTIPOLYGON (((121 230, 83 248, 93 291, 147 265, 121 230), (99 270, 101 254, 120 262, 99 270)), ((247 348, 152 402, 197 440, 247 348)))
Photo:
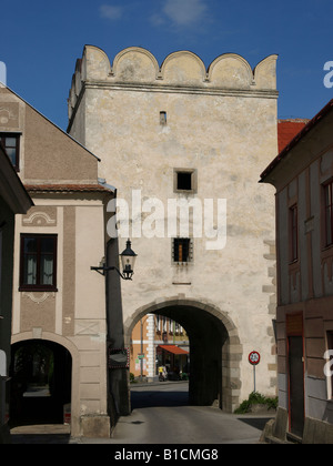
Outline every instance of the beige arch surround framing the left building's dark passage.
MULTIPOLYGON (((71 435, 79 436, 80 435, 80 398, 77 396, 79 393, 79 352, 78 348, 67 338, 63 338, 59 335, 53 333, 43 332, 42 337, 36 338, 33 332, 26 332, 22 334, 18 334, 12 336, 12 348, 19 347, 20 345, 28 345, 30 342, 40 343, 40 345, 44 345, 46 347, 50 347, 52 351, 58 350, 59 357, 62 355, 68 354, 70 357, 70 394, 68 395, 68 402, 71 405, 71 435)), ((61 378, 61 377, 60 377, 61 378)), ((59 379, 60 379, 59 378, 59 379)))

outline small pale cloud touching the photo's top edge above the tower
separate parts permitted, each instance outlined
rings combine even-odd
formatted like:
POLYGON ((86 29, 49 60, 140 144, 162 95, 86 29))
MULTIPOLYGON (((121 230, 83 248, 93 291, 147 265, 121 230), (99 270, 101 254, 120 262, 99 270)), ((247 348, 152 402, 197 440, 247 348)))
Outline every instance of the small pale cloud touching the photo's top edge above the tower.
POLYGON ((208 11, 206 0, 165 0, 163 13, 176 26, 201 22, 208 11))

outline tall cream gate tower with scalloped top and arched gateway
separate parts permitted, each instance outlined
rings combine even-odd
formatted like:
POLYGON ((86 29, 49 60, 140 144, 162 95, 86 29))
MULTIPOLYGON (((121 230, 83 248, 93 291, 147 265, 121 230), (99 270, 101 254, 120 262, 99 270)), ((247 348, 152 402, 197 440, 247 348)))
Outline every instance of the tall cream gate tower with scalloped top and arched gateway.
POLYGON ((256 389, 276 386, 274 199, 258 183, 278 153, 275 65, 270 55, 252 70, 228 53, 206 69, 189 51, 159 64, 141 48, 110 61, 87 45, 69 95, 68 132, 118 190, 111 243, 122 250, 131 237, 138 253, 113 303, 123 344, 147 314, 179 322, 191 345, 191 403, 228 411, 253 391, 252 351, 256 389), (174 202, 188 207, 189 231, 174 202))

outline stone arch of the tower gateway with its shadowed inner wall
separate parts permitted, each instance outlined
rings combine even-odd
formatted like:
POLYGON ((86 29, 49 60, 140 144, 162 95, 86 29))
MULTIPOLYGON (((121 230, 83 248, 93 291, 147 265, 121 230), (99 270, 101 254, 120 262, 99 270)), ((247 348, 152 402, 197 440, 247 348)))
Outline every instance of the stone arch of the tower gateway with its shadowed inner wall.
POLYGON ((232 413, 239 405, 242 345, 230 317, 208 302, 172 297, 140 307, 124 323, 125 345, 145 314, 161 314, 179 322, 190 336, 190 403, 232 413))

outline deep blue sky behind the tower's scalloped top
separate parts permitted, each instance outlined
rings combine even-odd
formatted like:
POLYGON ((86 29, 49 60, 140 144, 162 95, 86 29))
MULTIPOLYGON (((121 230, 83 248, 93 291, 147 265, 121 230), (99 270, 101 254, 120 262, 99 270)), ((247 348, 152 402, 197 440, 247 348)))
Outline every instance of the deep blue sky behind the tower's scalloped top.
POLYGON ((278 53, 279 118, 312 118, 333 98, 323 83, 333 61, 332 18, 332 0, 11 0, 1 8, 0 61, 8 87, 65 130, 84 44, 111 61, 132 45, 160 63, 191 50, 206 67, 228 52, 252 68, 278 53))

